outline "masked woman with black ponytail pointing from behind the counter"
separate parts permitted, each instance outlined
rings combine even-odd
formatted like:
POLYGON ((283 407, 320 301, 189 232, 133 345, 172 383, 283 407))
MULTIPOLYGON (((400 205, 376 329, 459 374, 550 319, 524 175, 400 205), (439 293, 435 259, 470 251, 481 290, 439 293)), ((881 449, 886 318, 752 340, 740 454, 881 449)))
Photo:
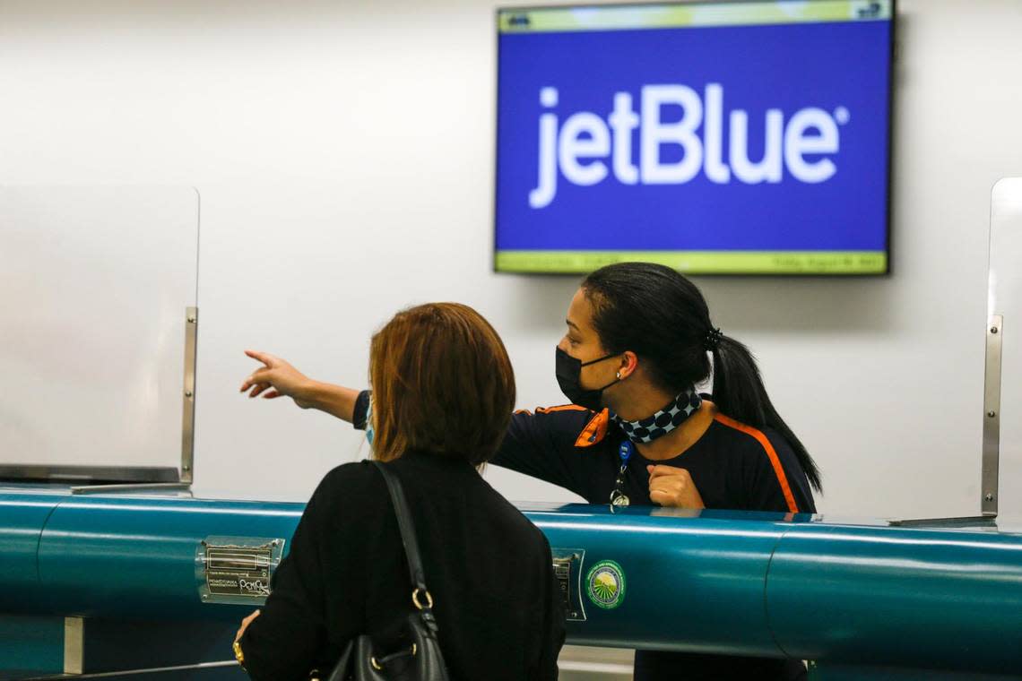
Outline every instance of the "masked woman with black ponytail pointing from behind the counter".
MULTIPOLYGON (((491 464, 590 503, 816 512, 816 464, 771 402, 748 348, 713 326, 692 282, 658 264, 607 265, 583 281, 566 324, 556 373, 571 403, 516 412, 491 464), (712 395, 697 393, 707 379, 712 395)), ((266 368, 242 386, 251 396, 289 395, 366 427, 368 391, 252 356, 266 368)), ((636 651, 636 681, 801 678, 800 661, 636 651)))

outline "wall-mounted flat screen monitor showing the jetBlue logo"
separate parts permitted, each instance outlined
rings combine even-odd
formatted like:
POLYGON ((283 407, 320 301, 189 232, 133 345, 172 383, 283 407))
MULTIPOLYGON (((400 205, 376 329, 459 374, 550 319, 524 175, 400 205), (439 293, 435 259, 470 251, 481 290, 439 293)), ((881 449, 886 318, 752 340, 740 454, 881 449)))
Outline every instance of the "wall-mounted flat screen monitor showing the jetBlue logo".
POLYGON ((495 269, 883 275, 891 0, 500 9, 495 269))

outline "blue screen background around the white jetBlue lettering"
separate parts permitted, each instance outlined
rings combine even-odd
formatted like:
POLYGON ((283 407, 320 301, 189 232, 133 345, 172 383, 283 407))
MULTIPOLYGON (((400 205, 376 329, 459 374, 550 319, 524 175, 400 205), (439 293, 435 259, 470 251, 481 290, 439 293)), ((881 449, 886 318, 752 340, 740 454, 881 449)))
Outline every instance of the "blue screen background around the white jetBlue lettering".
MULTIPOLYGON (((501 34, 497 249, 886 250, 889 44, 890 22, 876 20, 501 34), (781 183, 758 185, 733 174, 719 185, 700 171, 686 184, 630 186, 611 172, 590 187, 560 176, 554 201, 529 206, 541 113, 557 113, 558 126, 582 110, 606 120, 615 92, 630 92, 639 113, 644 85, 683 84, 703 98, 707 83, 724 87, 725 163, 735 108, 748 113, 755 162, 766 109, 780 108, 787 125, 801 108, 846 107, 850 119, 838 126, 840 150, 831 156, 837 173, 803 184, 785 171, 781 183), (540 104, 545 86, 559 91, 552 109, 540 104)), ((680 117, 670 108, 664 121, 680 117)), ((639 139, 637 129, 637 166, 639 139)), ((680 157, 680 148, 663 147, 662 161, 680 157)))

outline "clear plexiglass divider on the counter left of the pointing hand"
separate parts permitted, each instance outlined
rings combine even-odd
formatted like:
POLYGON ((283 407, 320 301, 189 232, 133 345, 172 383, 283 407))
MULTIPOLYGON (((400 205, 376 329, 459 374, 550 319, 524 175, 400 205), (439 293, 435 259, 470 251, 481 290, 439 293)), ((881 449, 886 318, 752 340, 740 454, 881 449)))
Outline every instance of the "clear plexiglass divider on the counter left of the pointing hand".
POLYGON ((188 187, 0 187, 5 477, 177 478, 198 215, 188 187))

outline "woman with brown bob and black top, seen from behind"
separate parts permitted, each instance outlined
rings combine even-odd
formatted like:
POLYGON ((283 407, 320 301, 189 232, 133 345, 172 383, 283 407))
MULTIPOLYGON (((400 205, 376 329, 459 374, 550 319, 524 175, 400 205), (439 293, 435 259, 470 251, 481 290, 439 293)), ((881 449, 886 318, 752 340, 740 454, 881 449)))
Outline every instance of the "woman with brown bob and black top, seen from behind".
MULTIPOLYGON (((419 305, 373 336, 369 364, 374 457, 408 498, 450 677, 556 679, 564 624, 550 546, 477 471, 515 402, 500 337, 471 307, 419 305)), ((251 678, 285 680, 329 670, 361 634, 400 649, 412 591, 383 477, 369 461, 340 466, 306 506, 236 652, 251 678)))

